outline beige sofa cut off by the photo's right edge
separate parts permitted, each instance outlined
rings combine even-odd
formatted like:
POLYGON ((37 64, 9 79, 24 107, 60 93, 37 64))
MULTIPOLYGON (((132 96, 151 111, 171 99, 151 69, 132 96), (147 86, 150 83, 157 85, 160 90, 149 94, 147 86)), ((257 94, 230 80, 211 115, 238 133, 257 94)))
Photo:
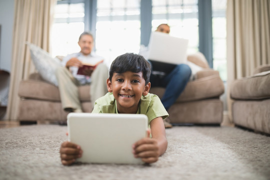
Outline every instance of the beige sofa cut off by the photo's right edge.
POLYGON ((235 125, 270 134, 270 64, 230 84, 232 121, 235 125))

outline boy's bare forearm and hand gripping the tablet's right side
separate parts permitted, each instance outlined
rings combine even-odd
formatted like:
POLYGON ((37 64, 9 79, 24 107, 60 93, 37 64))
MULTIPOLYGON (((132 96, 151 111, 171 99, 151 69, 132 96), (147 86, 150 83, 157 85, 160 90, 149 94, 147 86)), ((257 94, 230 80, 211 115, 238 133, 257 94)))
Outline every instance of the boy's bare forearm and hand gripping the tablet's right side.
POLYGON ((162 117, 156 117, 150 122, 152 138, 145 137, 133 144, 133 154, 146 163, 158 160, 167 149, 167 139, 162 117))

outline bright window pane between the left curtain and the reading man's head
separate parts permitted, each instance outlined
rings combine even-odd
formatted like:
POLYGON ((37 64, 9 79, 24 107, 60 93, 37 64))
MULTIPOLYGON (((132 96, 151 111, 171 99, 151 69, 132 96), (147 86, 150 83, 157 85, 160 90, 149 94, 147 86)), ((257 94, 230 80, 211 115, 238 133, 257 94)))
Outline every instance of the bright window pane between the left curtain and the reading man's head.
POLYGON ((54 8, 51 31, 51 55, 67 55, 78 52, 79 34, 84 30, 84 0, 58 1, 54 8), (68 3, 67 3, 68 2, 68 3))

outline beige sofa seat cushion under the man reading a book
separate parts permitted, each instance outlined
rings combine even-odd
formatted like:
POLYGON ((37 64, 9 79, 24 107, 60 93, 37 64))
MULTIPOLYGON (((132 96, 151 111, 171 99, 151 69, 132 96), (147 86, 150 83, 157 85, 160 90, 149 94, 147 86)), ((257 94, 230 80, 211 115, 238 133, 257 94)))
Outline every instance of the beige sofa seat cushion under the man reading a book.
MULTIPOLYGON (((90 101, 90 85, 78 87, 80 101, 90 101)), ((60 101, 58 87, 42 80, 22 80, 19 83, 18 95, 23 98, 60 101)))

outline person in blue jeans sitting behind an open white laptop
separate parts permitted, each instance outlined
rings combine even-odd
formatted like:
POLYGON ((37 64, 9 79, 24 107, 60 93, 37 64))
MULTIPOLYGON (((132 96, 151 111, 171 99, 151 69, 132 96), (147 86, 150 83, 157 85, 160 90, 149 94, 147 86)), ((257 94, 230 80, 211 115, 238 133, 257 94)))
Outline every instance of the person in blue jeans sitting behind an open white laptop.
MULTIPOLYGON (((157 26, 156 31, 169 33, 170 28, 168 24, 162 23, 157 26)), ((164 44, 164 48, 166 45, 164 44)), ((140 49, 139 54, 143 55, 147 59, 147 48, 140 49)), ((147 59, 149 60, 149 59, 147 59)), ((191 69, 187 64, 180 63, 170 72, 155 71, 151 69, 150 82, 152 87, 165 87, 164 95, 161 98, 161 102, 165 109, 175 102, 181 92, 184 90, 187 82, 190 79, 191 69)), ((165 128, 170 128, 172 125, 169 123, 169 119, 164 119, 165 128)))

